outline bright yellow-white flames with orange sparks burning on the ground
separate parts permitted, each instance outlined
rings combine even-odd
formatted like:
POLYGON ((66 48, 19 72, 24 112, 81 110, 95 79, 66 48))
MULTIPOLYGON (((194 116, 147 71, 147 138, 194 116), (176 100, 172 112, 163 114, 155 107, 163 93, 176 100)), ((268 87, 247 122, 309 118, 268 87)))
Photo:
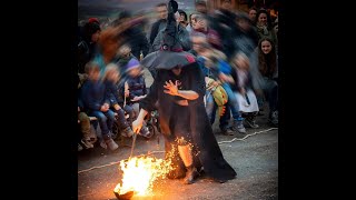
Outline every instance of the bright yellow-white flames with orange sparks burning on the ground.
POLYGON ((122 184, 118 183, 115 192, 123 194, 135 191, 136 196, 152 194, 152 183, 158 178, 166 178, 172 169, 170 159, 156 159, 152 157, 134 157, 129 160, 121 160, 122 184))

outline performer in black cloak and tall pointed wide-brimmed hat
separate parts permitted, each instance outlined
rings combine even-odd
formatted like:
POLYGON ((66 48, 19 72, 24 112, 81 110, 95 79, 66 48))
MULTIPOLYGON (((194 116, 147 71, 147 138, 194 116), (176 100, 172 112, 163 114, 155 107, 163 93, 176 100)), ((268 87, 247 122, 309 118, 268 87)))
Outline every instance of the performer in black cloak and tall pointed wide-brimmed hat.
POLYGON ((185 177, 184 182, 190 184, 199 176, 198 171, 204 171, 212 180, 225 182, 234 179, 236 171, 224 159, 205 111, 202 71, 192 54, 174 51, 181 49, 175 39, 174 13, 177 9, 177 2, 170 0, 162 48, 141 62, 145 67, 156 68, 157 77, 147 97, 140 101, 141 109, 132 129, 138 133, 145 116, 158 109, 166 139, 166 158, 174 154, 170 158, 175 170, 169 177, 185 177))

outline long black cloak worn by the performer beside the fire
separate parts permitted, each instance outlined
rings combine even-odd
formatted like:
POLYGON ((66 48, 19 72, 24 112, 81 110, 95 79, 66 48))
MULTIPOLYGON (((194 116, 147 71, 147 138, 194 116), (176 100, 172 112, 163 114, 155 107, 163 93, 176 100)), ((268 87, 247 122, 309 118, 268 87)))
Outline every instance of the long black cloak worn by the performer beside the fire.
MULTIPOLYGON (((179 113, 175 110, 175 100, 177 97, 164 92, 165 82, 171 80, 179 80, 181 82, 181 90, 192 90, 199 94, 196 100, 188 100, 188 110, 190 122, 190 133, 194 144, 194 163, 199 169, 204 168, 204 172, 217 181, 227 181, 236 177, 236 171, 224 159, 219 144, 214 136, 211 124, 205 110, 204 94, 206 84, 204 73, 197 62, 189 63, 182 67, 181 73, 177 77, 171 70, 159 69, 154 83, 150 87, 149 93, 140 101, 140 108, 147 111, 156 110, 156 101, 158 102, 159 123, 161 133, 165 136, 166 141, 171 142, 170 126, 174 114, 179 113)), ((176 117, 177 118, 177 117, 176 117)), ((167 142, 166 142, 167 143, 167 142)), ((169 148, 168 148, 169 150, 169 148)), ((178 153, 178 152, 177 152, 178 153)), ((166 148, 167 154, 167 148, 166 148)), ((175 160, 178 166, 179 172, 185 174, 185 168, 180 159, 175 160)), ((181 174, 181 173, 180 173, 181 174)))

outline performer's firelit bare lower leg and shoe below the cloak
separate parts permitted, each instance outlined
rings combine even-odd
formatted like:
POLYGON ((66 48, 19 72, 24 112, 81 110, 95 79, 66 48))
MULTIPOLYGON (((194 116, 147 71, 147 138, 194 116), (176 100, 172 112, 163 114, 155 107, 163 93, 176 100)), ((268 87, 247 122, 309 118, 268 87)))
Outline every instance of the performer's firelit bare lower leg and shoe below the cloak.
POLYGON ((197 168, 192 164, 192 154, 189 146, 178 146, 178 151, 182 162, 187 168, 186 177, 184 179, 185 184, 194 183, 195 179, 199 176, 197 168))

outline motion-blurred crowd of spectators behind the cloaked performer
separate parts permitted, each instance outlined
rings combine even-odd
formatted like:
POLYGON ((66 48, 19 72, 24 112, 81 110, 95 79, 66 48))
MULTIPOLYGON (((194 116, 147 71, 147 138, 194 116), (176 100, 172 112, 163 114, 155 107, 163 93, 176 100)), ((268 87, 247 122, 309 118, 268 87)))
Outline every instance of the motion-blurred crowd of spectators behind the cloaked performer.
MULTIPOLYGON (((167 2, 152 9, 155 19, 121 10, 115 19, 78 23, 78 151, 96 143, 116 150, 116 138, 132 137, 139 102, 149 92, 141 60, 161 50, 167 26, 167 2)), ((222 0, 210 9, 197 0, 192 12, 178 9, 175 19, 180 50, 194 54, 205 74, 210 123, 218 114, 222 134, 246 134, 246 128, 259 127, 256 118, 268 114, 266 123, 277 127, 278 8, 251 3, 246 12, 222 0)), ((147 71, 156 78, 155 69, 147 71)), ((152 136, 148 122, 139 136, 152 136)))

